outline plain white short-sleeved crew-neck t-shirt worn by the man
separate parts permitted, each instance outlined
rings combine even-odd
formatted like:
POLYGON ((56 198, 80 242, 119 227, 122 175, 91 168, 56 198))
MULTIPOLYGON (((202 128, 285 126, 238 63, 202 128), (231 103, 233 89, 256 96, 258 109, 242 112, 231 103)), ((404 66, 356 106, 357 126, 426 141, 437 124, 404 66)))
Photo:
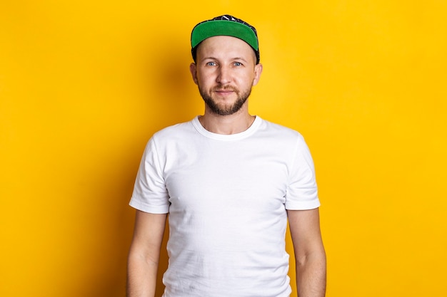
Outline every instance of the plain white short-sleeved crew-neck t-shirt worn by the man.
POLYGON ((165 297, 286 297, 286 209, 320 202, 303 137, 256 117, 233 135, 199 118, 156 132, 130 205, 169 213, 165 297))

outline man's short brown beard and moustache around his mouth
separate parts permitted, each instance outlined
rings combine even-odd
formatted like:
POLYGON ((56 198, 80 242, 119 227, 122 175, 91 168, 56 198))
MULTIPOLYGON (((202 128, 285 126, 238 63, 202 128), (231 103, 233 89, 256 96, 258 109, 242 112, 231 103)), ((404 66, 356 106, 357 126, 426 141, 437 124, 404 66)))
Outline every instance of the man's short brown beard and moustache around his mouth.
POLYGON ((241 92, 237 88, 218 85, 211 89, 211 92, 207 93, 199 85, 199 92, 204 99, 206 106, 208 106, 212 113, 215 113, 216 115, 232 115, 233 113, 237 113, 241 110, 243 104, 246 103, 246 100, 251 93, 251 87, 241 92), (214 100, 212 95, 210 95, 210 93, 212 94, 216 90, 232 90, 237 95, 236 101, 232 104, 219 104, 216 100, 214 100))

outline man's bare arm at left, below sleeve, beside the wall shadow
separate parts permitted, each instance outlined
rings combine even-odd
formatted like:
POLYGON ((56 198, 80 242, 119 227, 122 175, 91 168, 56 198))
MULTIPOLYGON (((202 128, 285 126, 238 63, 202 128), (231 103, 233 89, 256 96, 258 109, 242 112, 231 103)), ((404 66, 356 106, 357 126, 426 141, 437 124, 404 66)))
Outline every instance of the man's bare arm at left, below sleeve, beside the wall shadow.
POLYGON ((166 214, 136 211, 127 263, 127 297, 154 297, 166 214))

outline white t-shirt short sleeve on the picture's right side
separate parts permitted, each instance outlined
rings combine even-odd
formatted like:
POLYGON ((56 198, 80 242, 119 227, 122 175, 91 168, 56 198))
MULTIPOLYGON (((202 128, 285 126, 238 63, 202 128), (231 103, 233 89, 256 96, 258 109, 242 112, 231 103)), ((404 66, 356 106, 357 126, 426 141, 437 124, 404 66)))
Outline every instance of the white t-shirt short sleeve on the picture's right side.
POLYGON ((311 152, 301 135, 296 142, 286 192, 286 209, 306 210, 320 206, 311 152))

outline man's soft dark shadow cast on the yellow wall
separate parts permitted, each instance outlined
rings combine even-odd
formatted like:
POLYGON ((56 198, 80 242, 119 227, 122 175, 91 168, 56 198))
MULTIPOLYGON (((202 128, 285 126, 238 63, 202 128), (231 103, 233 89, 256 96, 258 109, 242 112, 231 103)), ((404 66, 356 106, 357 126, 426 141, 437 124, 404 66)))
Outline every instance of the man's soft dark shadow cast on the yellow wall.
MULTIPOLYGON (((156 38, 156 40, 164 39, 156 38)), ((76 293, 72 292, 71 296, 125 296, 126 261, 135 214, 134 209, 129 206, 129 199, 144 146, 157 130, 191 120, 196 113, 195 106, 201 104, 200 100, 194 99, 198 92, 189 75, 189 63, 191 63, 189 48, 173 45, 172 40, 169 42, 160 42, 158 50, 151 50, 151 53, 156 51, 158 54, 147 56, 147 61, 142 63, 146 66, 143 67, 144 73, 141 74, 141 79, 151 80, 147 81, 146 89, 141 90, 146 97, 144 98, 146 105, 141 106, 144 127, 135 127, 143 132, 134 133, 138 139, 134 143, 124 145, 126 149, 116 152, 115 160, 102 161, 113 163, 113 172, 101 172, 104 170, 101 164, 91 166, 98 172, 89 175, 101 176, 101 180, 105 179, 104 174, 109 175, 106 183, 96 184, 92 189, 95 192, 93 195, 99 200, 95 205, 96 212, 101 212, 101 220, 106 222, 101 224, 91 222, 94 227, 89 232, 95 232, 100 238, 92 248, 96 254, 92 256, 96 265, 89 277, 84 278, 83 286, 76 288, 76 293), (194 100, 198 104, 191 103, 194 100)), ((129 99, 131 98, 124 98, 124 102, 129 99)), ((169 228, 166 226, 164 243, 161 247, 156 297, 161 296, 164 291, 162 276, 168 266, 166 251, 168 236, 169 228)))

